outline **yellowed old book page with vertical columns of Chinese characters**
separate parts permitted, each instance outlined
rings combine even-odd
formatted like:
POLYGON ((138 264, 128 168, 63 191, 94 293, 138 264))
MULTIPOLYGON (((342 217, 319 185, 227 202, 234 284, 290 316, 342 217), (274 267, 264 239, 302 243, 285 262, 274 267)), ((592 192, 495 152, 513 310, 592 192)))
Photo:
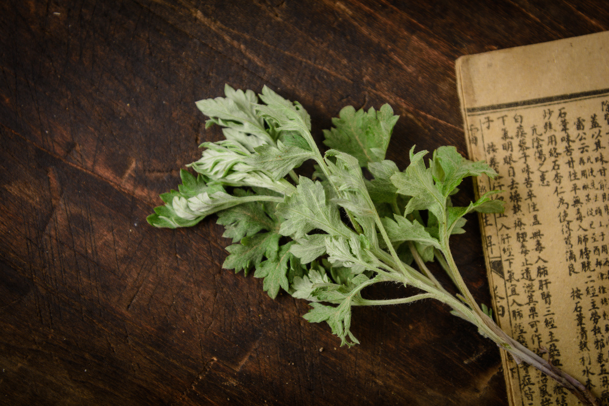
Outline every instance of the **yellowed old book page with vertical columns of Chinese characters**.
MULTIPOLYGON (((609 404, 609 32, 457 60, 495 318, 609 404)), ((512 405, 576 405, 502 354, 512 405)))

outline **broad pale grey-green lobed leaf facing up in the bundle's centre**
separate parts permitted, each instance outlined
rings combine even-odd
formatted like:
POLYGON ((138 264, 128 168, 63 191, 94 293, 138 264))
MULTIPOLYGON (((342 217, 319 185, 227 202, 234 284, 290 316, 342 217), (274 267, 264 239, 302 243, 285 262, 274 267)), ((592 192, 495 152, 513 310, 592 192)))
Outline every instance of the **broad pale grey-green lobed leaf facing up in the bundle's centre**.
POLYGON ((340 220, 336 203, 326 198, 323 185, 300 177, 296 191, 277 205, 277 214, 286 219, 281 223, 280 234, 300 239, 313 229, 322 229, 331 235, 348 236, 351 230, 340 220))

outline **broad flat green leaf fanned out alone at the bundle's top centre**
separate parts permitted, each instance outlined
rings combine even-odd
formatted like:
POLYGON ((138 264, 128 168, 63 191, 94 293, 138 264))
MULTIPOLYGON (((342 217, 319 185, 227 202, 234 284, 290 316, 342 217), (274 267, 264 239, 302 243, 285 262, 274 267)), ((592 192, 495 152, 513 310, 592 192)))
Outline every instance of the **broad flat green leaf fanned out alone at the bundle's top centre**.
POLYGON ((348 106, 332 120, 334 128, 323 131, 326 138, 323 143, 355 156, 359 166, 382 161, 398 118, 387 104, 379 111, 370 108, 367 112, 348 106))

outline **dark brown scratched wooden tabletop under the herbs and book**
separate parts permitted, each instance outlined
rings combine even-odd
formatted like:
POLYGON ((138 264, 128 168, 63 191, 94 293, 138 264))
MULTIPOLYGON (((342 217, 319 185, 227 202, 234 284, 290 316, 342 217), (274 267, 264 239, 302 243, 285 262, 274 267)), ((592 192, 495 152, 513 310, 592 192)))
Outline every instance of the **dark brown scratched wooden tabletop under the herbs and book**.
POLYGON ((318 137, 389 102, 403 168, 412 144, 465 153, 457 57, 609 29, 606 1, 477 3, 1 1, 0 404, 506 405, 498 349, 440 304, 356 309, 340 348, 305 302, 222 270, 214 219, 146 223, 219 139, 194 102, 225 83, 299 100, 318 137))

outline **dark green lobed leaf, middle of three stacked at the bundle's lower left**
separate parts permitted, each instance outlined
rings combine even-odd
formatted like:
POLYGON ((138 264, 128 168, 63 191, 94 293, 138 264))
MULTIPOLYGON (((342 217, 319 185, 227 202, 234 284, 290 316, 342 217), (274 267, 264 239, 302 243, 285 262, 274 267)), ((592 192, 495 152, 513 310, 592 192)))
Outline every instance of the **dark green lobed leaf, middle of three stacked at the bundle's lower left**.
POLYGON ((225 259, 222 268, 234 269, 235 273, 244 270, 245 275, 253 267, 258 267, 262 259, 275 260, 279 250, 279 234, 269 231, 244 237, 241 243, 226 248, 230 255, 225 259))

